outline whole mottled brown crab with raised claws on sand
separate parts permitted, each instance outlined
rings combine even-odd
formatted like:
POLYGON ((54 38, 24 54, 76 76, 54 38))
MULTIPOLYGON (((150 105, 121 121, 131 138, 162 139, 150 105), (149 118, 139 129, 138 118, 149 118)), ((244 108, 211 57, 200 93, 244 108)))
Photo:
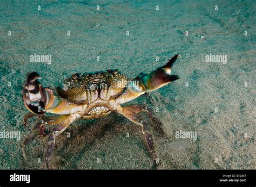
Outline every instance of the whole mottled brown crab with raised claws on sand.
POLYGON ((53 128, 48 134, 48 145, 44 153, 45 167, 49 168, 55 139, 71 123, 78 119, 104 117, 112 111, 116 111, 142 128, 146 147, 154 165, 158 166, 159 159, 154 149, 153 136, 148 124, 140 118, 139 113, 147 112, 154 123, 160 120, 157 120, 154 111, 145 105, 122 107, 121 104, 130 102, 141 95, 147 95, 147 92, 157 90, 178 80, 179 76, 171 75, 171 69, 179 56, 173 56, 164 66, 157 68, 150 74, 140 73, 131 81, 127 81, 125 75, 113 69, 93 74, 73 74, 57 87, 57 92, 42 87, 38 81, 41 79, 38 73, 29 74, 23 89, 23 100, 30 113, 24 116, 24 125, 28 118, 33 116, 39 117, 40 120, 22 143, 24 158, 26 159, 26 146, 35 139, 36 135, 45 136, 45 125, 51 125, 53 128), (130 83, 129 86, 123 84, 127 82, 130 83), (58 115, 47 116, 45 115, 47 113, 58 115))

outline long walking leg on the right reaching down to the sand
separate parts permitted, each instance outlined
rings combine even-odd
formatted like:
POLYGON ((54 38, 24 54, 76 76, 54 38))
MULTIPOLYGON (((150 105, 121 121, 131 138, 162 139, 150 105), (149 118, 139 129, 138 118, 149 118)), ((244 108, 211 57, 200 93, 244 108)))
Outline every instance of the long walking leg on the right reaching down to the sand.
POLYGON ((149 150, 150 155, 153 157, 154 159, 154 163, 156 165, 158 165, 158 157, 157 154, 154 150, 154 142, 153 142, 153 136, 151 135, 151 133, 149 132, 148 128, 147 128, 147 124, 145 123, 145 121, 142 121, 139 119, 138 116, 138 111, 134 112, 132 111, 132 108, 134 106, 128 106, 128 107, 118 107, 117 112, 122 114, 124 117, 126 117, 127 119, 131 120, 133 123, 139 125, 142 127, 142 133, 144 135, 145 138, 145 142, 146 142, 146 146, 147 149, 149 150))

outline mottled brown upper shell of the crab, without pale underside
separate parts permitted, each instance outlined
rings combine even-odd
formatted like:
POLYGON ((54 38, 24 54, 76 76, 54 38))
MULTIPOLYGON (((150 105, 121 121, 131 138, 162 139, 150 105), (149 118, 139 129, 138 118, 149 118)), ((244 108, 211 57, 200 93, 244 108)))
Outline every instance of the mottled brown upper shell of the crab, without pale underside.
POLYGON ((127 77, 109 69, 94 74, 73 74, 57 88, 59 96, 77 103, 93 103, 96 99, 109 100, 123 92, 127 77))

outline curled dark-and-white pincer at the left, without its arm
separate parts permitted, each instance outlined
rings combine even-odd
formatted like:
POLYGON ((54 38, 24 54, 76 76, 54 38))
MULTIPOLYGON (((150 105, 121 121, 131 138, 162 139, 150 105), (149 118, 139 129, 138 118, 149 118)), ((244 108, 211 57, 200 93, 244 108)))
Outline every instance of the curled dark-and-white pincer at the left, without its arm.
POLYGON ((38 73, 29 74, 23 89, 23 100, 26 108, 35 114, 44 114, 47 93, 41 86, 38 79, 41 79, 38 73))

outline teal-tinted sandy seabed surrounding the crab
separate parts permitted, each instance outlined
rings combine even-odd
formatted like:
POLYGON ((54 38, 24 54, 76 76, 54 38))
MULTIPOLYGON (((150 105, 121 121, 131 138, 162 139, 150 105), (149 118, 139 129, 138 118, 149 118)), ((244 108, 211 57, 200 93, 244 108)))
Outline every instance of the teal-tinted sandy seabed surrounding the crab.
MULTIPOLYGON (((73 73, 111 68, 134 78, 175 54, 172 74, 181 78, 151 92, 157 105, 126 103, 158 107, 166 133, 152 130, 159 169, 255 169, 255 10, 256 1, 1 1, 0 131, 19 131, 21 140, 0 138, 0 169, 44 169, 47 137, 27 147, 28 162, 21 151, 37 121, 22 124, 30 72, 56 88, 73 73), (30 62, 35 53, 51 63, 30 62), (208 62, 210 54, 226 62, 208 62), (197 140, 177 139, 180 130, 197 140)), ((152 165, 140 127, 116 113, 72 123, 50 161, 52 169, 152 165)))

